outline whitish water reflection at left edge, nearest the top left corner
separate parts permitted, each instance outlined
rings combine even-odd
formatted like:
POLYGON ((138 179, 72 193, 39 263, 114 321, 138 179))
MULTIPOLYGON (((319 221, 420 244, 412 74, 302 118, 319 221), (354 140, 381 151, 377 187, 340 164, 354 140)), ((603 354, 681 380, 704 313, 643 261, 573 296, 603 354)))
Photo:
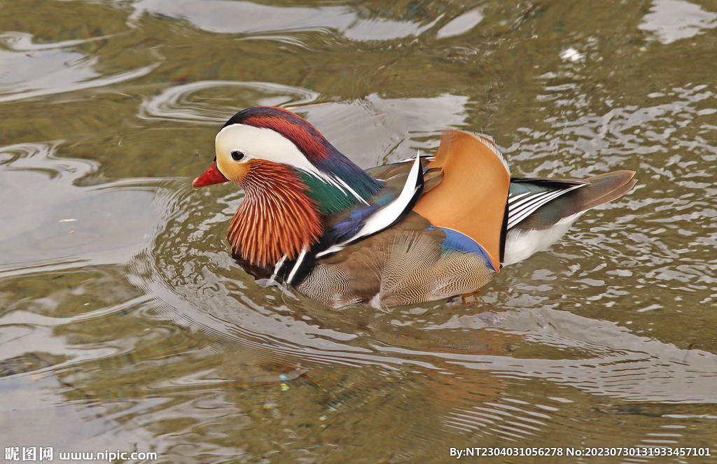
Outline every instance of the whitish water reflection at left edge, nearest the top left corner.
POLYGON ((105 38, 35 44, 31 34, 0 34, 7 48, 0 49, 0 103, 117 84, 146 75, 161 63, 108 74, 98 71, 97 57, 72 48, 105 38))

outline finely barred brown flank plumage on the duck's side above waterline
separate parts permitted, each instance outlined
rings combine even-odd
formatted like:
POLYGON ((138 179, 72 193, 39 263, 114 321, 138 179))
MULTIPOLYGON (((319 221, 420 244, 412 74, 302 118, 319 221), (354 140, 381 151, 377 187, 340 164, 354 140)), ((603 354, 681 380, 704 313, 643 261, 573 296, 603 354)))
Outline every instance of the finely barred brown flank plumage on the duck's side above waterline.
POLYGON ((398 224, 319 260, 298 290, 327 306, 374 308, 480 290, 495 274, 483 258, 441 246, 445 232, 409 213, 398 224))

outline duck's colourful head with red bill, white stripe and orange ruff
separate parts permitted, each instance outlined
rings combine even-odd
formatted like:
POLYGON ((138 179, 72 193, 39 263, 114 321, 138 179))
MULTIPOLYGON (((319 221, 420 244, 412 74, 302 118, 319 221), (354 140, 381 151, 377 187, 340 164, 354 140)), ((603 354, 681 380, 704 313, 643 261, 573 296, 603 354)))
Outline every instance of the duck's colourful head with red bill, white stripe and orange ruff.
POLYGON ((319 240, 326 216, 368 202, 381 186, 282 108, 240 111, 217 133, 215 148, 192 186, 232 181, 244 189, 227 239, 235 257, 259 267, 293 260, 319 240))

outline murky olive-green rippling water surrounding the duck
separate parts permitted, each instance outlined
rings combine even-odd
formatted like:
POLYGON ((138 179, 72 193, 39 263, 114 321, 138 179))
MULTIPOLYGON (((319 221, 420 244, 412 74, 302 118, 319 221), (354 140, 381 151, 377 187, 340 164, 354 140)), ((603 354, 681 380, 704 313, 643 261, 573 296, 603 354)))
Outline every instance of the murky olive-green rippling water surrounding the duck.
POLYGON ((717 462, 716 63, 707 0, 0 0, 0 445, 717 462), (473 298, 332 311, 233 265, 242 194, 190 189, 253 105, 364 167, 450 126, 514 175, 640 183, 473 298))

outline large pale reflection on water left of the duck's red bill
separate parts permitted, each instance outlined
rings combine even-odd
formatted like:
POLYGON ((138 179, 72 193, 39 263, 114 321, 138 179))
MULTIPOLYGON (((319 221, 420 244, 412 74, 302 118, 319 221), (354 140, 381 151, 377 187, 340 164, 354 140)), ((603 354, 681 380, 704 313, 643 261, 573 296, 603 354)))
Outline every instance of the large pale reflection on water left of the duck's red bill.
POLYGON ((163 179, 79 186, 98 164, 57 143, 0 148, 0 275, 126 262, 151 243, 174 195, 163 179))

